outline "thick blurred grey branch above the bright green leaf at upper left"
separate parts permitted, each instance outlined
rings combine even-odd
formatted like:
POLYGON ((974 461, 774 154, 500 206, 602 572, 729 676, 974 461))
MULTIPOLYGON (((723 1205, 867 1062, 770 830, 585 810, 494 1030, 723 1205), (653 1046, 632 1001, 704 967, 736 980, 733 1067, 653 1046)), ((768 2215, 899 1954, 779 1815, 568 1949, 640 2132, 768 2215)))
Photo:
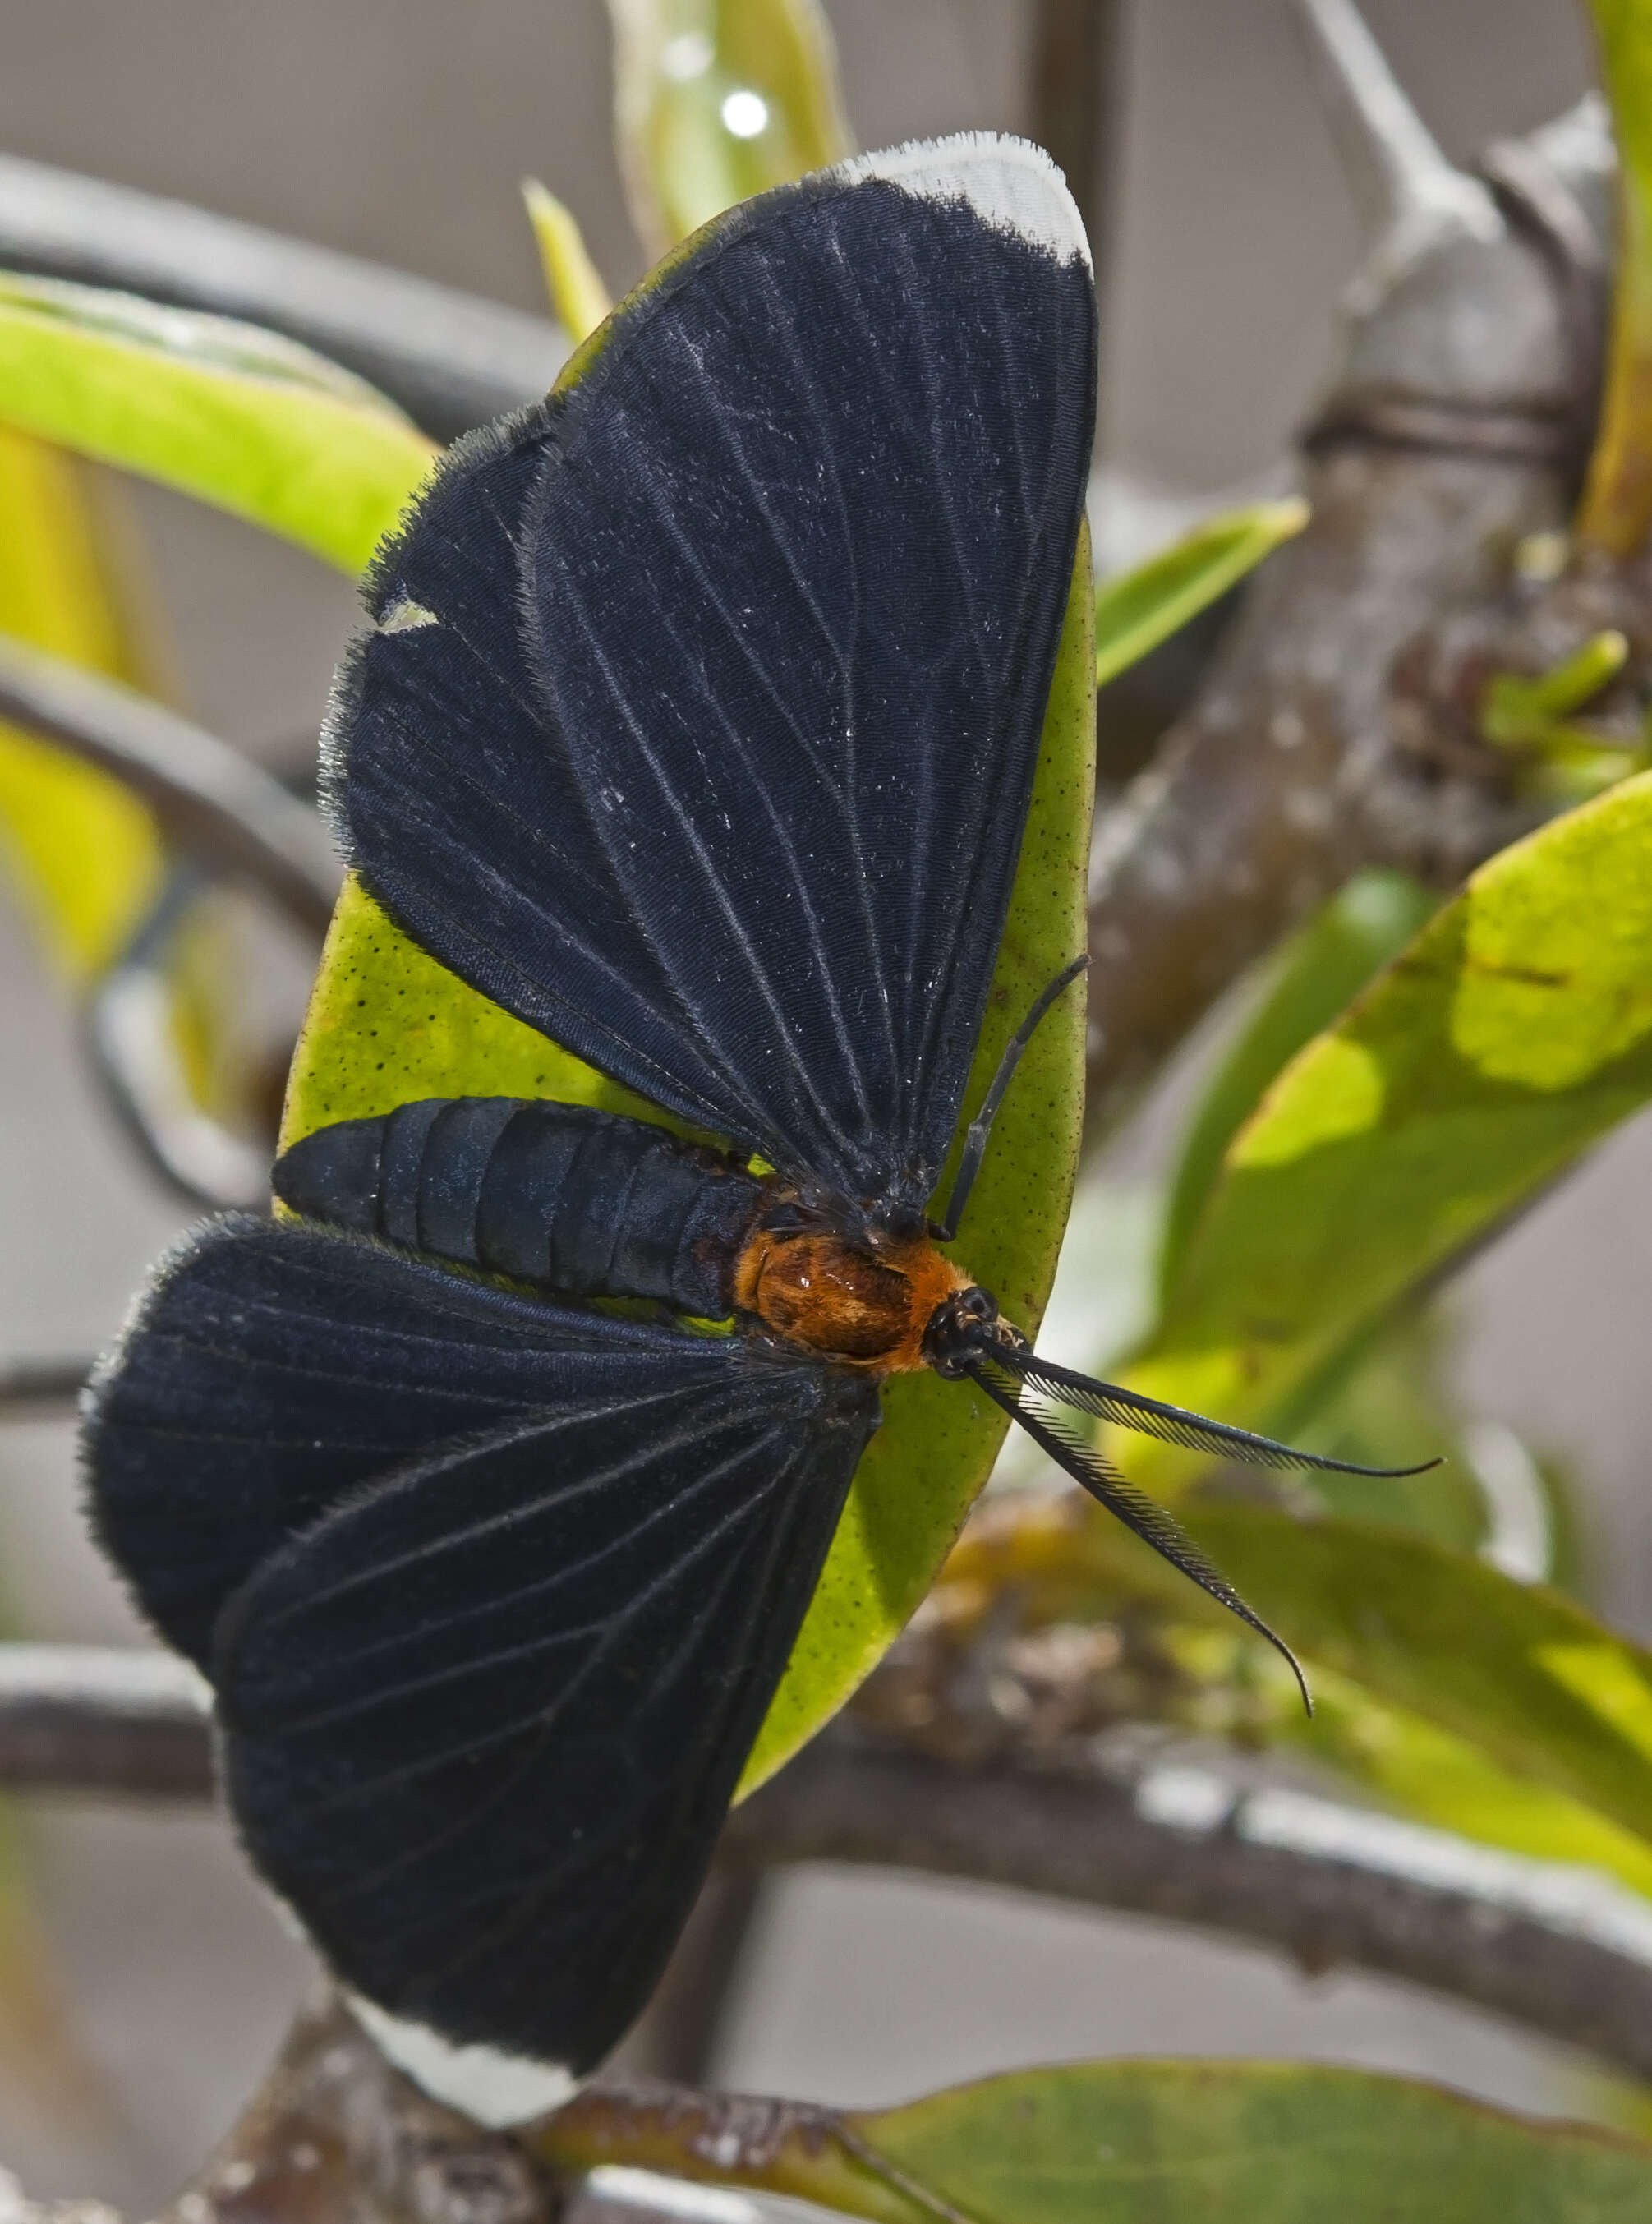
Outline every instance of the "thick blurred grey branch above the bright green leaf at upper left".
POLYGON ((18 156, 0 156, 0 265, 285 331, 436 440, 536 400, 567 356, 547 318, 18 156))

